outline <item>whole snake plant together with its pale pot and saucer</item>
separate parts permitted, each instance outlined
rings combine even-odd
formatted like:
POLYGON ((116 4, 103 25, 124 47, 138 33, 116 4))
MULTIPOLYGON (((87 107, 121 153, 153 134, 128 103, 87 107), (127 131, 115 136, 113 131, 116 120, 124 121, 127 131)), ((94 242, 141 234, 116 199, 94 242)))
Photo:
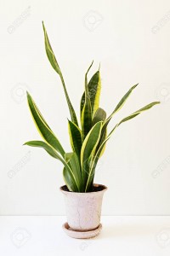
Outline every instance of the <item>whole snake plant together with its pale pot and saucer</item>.
POLYGON ((59 139, 54 135, 54 132, 42 117, 37 104, 28 92, 27 100, 31 115, 43 141, 30 141, 25 143, 25 145, 44 148, 48 154, 62 162, 64 166, 63 177, 65 185, 60 187, 60 190, 65 195, 67 215, 67 223, 64 224, 63 228, 72 237, 92 237, 99 234, 101 230, 100 214, 102 198, 107 189, 104 185, 94 183, 95 168, 98 164, 99 157, 105 151, 105 144, 119 125, 129 119, 133 119, 139 113, 152 108, 160 102, 151 102, 144 108, 139 108, 139 110, 131 113, 117 123, 108 133, 107 127, 112 117, 122 108, 138 84, 133 85, 127 91, 113 112, 107 117, 105 110, 99 108, 101 90, 99 70, 94 73, 88 82, 88 71, 93 65, 92 62, 85 74, 85 88, 80 103, 81 121, 79 125, 76 112, 72 107, 65 87, 63 75, 54 56, 54 51, 49 43, 48 34, 43 23, 42 26, 48 60, 61 79, 66 102, 71 113, 71 119, 68 120, 71 152, 65 152, 65 149, 59 143, 59 139))

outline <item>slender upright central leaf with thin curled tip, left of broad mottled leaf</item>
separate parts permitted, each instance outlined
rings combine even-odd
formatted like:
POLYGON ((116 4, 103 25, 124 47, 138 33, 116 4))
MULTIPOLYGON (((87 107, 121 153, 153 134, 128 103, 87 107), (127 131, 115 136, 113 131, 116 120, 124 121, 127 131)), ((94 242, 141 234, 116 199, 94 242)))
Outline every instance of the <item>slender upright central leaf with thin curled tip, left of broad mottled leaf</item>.
MULTIPOLYGON (((94 61, 88 67, 89 69, 92 67, 94 61)), ((82 108, 82 116, 81 116, 81 124, 82 124, 82 140, 87 136, 88 131, 92 128, 92 106, 90 102, 90 96, 88 91, 88 71, 85 74, 85 102, 84 107, 82 108)))

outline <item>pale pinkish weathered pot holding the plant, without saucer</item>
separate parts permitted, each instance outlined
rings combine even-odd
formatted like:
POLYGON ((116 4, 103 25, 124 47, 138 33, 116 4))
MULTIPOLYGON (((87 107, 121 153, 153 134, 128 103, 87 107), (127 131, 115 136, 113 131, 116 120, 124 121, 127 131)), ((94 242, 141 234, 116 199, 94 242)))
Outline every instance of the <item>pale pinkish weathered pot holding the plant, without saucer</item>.
POLYGON ((94 184, 96 192, 69 192, 66 186, 60 187, 65 196, 67 222, 71 230, 88 231, 99 227, 103 195, 107 187, 94 184))

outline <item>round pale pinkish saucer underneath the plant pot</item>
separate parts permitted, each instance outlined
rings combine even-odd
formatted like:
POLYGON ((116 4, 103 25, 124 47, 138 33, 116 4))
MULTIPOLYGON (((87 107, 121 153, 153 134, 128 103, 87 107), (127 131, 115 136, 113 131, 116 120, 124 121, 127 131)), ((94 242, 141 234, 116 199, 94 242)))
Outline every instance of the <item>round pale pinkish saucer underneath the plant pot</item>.
POLYGON ((102 229, 102 224, 99 224, 99 227, 95 230, 90 230, 90 231, 76 231, 76 230, 71 230, 71 227, 67 222, 63 224, 63 230, 68 236, 71 236, 72 238, 77 238, 77 239, 87 239, 87 238, 92 238, 94 236, 98 236, 99 232, 102 229))

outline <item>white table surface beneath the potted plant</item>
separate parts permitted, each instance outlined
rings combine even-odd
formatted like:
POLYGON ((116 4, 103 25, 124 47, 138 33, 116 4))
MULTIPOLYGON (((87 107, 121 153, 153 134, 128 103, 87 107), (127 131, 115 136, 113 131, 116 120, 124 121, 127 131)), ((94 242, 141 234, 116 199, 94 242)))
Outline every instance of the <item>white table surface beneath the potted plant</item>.
POLYGON ((0 255, 170 256, 169 216, 103 216, 100 235, 88 240, 66 236, 62 230, 65 219, 65 216, 0 217, 0 255))

